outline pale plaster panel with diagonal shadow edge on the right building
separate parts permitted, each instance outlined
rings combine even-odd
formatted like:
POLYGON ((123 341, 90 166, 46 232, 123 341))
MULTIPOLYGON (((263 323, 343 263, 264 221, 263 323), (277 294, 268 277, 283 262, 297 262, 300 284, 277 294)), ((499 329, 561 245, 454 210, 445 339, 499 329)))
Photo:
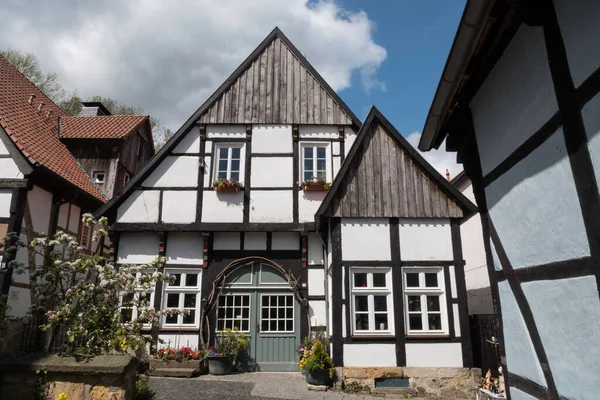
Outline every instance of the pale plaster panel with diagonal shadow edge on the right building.
POLYGON ((486 188, 514 268, 590 254, 562 129, 486 188))

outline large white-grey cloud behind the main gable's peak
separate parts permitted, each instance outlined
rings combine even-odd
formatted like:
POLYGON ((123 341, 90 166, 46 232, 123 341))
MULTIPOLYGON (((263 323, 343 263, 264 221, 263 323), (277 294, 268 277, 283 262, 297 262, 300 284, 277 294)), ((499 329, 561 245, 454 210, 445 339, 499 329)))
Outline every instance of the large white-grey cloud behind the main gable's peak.
POLYGON ((373 22, 329 0, 75 0, 3 5, 0 48, 33 52, 82 97, 141 106, 177 129, 279 26, 334 90, 365 90, 386 50, 373 22))

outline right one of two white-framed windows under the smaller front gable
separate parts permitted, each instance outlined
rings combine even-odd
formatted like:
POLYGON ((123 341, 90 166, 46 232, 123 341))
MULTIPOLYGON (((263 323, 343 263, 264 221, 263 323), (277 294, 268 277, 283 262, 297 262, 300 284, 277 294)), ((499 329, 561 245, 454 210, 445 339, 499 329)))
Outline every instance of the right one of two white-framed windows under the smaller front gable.
POLYGON ((404 267, 402 275, 407 335, 447 335, 444 269, 404 267))

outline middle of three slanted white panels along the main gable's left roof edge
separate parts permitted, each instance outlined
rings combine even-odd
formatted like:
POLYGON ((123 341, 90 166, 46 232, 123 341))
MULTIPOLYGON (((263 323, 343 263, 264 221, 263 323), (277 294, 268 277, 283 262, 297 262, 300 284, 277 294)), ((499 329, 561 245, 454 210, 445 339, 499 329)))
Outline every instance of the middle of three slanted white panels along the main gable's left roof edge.
POLYGON ((168 156, 142 184, 149 187, 197 187, 198 157, 168 156))

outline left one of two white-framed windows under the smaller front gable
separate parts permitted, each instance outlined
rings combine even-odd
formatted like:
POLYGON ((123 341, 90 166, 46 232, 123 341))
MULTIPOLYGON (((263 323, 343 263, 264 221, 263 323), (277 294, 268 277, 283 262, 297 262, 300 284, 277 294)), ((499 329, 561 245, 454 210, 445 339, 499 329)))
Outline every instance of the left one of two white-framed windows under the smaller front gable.
POLYGON ((350 268, 352 334, 393 335, 392 269, 350 268))

